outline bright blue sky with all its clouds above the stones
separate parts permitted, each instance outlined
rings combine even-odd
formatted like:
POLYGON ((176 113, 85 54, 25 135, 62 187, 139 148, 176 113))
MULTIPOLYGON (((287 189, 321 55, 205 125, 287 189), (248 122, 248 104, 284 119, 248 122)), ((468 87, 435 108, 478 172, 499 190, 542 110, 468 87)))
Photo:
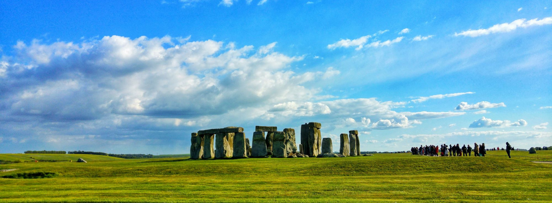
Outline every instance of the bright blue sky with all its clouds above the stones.
POLYGON ((0 153, 313 121, 362 151, 552 143, 552 1, 3 1, 0 56, 0 153))

